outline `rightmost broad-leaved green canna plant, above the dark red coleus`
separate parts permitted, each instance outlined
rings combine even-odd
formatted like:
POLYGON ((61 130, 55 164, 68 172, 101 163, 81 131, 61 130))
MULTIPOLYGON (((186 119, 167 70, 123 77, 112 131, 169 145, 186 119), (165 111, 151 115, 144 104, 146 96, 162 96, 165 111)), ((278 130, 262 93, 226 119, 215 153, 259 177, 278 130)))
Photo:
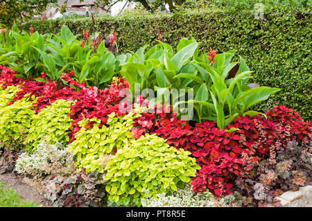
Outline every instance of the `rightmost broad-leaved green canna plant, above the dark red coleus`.
POLYGON ((250 107, 280 90, 270 87, 250 88, 247 83, 252 71, 241 57, 239 62, 232 62, 234 54, 235 51, 227 51, 216 54, 214 60, 197 59, 191 62, 203 80, 202 83, 198 82, 195 98, 187 101, 193 103, 199 122, 216 121, 218 127, 223 129, 238 116, 262 114, 250 110, 250 107), (230 71, 237 66, 239 69, 234 78, 229 78, 230 71))

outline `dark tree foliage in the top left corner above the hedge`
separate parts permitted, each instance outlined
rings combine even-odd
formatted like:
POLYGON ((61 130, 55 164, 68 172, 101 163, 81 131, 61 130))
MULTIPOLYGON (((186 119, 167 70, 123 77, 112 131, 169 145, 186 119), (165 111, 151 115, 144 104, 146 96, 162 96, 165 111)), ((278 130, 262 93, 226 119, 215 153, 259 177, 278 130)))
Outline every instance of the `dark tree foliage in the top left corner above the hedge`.
POLYGON ((58 0, 0 0, 0 25, 10 27, 15 22, 21 23, 40 15, 48 3, 58 0))

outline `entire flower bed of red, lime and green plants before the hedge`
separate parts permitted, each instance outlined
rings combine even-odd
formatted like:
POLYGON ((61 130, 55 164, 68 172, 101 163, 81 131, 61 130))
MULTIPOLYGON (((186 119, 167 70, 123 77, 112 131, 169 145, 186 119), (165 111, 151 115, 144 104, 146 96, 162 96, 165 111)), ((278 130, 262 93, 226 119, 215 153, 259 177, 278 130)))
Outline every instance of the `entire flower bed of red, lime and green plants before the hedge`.
MULTIPOLYGON (((16 50, 20 34, 10 35, 16 50)), ((29 44, 40 37, 21 35, 29 44)), ((232 61, 234 51, 199 55, 195 39, 182 39, 177 53, 159 41, 115 57, 85 35, 80 45, 64 27, 53 39, 88 51, 90 67, 80 71, 53 64, 57 50, 37 53, 44 65, 33 72, 25 70, 30 58, 18 64, 15 52, 6 61, 16 71, 0 66, 0 169, 44 186, 53 206, 280 206, 277 196, 311 184, 312 123, 281 105, 252 110, 279 89, 249 87, 252 71, 243 58, 232 61), (114 74, 98 82, 91 66, 111 58, 114 74), (136 94, 136 84, 161 95, 179 89, 188 99, 158 103, 136 94), (185 120, 176 107, 191 103, 185 120)))

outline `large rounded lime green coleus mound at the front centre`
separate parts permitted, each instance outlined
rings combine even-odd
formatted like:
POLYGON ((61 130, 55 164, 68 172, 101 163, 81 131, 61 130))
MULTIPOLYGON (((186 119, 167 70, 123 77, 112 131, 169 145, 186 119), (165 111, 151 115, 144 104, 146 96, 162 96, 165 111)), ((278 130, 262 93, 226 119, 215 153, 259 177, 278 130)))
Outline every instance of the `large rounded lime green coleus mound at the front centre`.
POLYGON ((118 150, 107 164, 104 179, 108 200, 140 206, 141 198, 183 188, 199 168, 189 154, 169 147, 155 134, 141 136, 128 148, 118 150))

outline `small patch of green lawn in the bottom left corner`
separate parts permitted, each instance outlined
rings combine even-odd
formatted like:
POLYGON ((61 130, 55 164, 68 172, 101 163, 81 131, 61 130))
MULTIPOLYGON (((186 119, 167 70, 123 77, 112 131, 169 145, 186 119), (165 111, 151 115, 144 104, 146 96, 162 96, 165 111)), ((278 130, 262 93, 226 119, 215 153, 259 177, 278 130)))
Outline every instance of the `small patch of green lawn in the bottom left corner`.
POLYGON ((40 207, 40 205, 32 201, 21 200, 17 191, 6 188, 5 184, 0 182, 0 207, 40 207))

